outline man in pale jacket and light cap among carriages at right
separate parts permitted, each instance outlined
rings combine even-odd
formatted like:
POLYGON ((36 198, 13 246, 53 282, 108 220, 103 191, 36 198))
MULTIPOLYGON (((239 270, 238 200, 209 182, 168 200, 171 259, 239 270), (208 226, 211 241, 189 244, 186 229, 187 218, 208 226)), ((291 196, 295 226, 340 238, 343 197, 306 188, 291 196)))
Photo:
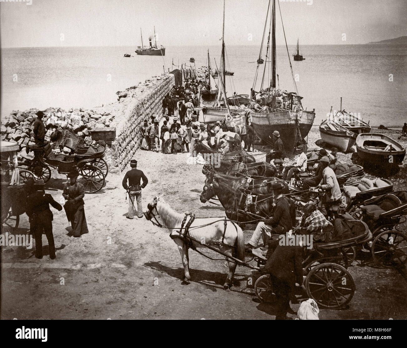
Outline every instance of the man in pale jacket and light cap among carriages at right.
POLYGON ((326 191, 326 193, 322 197, 322 200, 319 201, 319 206, 322 208, 323 205, 328 214, 331 206, 341 202, 342 194, 335 172, 329 167, 329 158, 324 156, 321 158, 320 162, 323 168, 322 180, 317 188, 321 188, 322 190, 326 191))

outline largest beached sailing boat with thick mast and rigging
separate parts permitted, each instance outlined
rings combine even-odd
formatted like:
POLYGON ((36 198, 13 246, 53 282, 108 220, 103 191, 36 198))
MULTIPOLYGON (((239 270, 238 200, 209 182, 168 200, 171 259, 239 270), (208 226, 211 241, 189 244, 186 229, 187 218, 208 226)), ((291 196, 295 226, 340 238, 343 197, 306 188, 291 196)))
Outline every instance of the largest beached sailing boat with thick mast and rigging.
MULTIPOLYGON (((266 24, 268 20, 269 10, 271 6, 271 0, 269 0, 269 7, 267 8, 266 24)), ((293 152, 298 142, 302 142, 308 135, 312 124, 315 119, 315 109, 313 111, 306 111, 301 104, 302 97, 298 95, 297 86, 293 77, 293 70, 291 67, 291 75, 293 77, 293 83, 295 92, 287 92, 276 88, 276 0, 273 0, 272 12, 270 13, 270 29, 269 39, 267 42, 267 55, 269 53, 270 33, 271 35, 271 81, 270 86, 263 90, 260 90, 260 99, 258 103, 251 107, 251 111, 247 117, 251 118, 251 124, 254 131, 261 140, 273 145, 272 134, 274 131, 280 133, 280 138, 284 143, 286 152, 293 152), (258 105, 264 105, 263 108, 259 108, 258 105)), ((284 25, 283 25, 284 28, 284 25)), ((263 37, 265 31, 263 33, 263 37)), ((263 48, 263 47, 262 47, 263 48)), ((262 49, 261 48, 261 49, 262 49)), ((288 56, 290 59, 290 56, 288 56)), ((256 85, 256 78, 258 73, 258 67, 256 70, 256 77, 253 83, 253 90, 256 85)), ((261 88, 263 88, 263 82, 265 79, 266 69, 263 72, 263 81, 261 88)), ((277 75, 278 76, 278 75, 277 75)), ((252 99, 252 97, 251 97, 252 99)))

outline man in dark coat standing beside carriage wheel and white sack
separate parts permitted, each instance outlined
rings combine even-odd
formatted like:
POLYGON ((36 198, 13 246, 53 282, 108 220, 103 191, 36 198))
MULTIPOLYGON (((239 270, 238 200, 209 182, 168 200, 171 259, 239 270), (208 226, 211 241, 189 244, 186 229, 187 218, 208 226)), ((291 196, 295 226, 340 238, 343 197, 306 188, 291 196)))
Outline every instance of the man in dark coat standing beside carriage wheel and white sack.
POLYGON ((295 286, 300 287, 303 282, 302 246, 280 245, 279 241, 271 241, 269 243, 269 252, 273 247, 276 247, 276 249, 271 254, 262 273, 270 274, 273 292, 277 300, 276 320, 287 320, 289 319, 287 312, 291 310, 290 297, 293 289, 295 286))

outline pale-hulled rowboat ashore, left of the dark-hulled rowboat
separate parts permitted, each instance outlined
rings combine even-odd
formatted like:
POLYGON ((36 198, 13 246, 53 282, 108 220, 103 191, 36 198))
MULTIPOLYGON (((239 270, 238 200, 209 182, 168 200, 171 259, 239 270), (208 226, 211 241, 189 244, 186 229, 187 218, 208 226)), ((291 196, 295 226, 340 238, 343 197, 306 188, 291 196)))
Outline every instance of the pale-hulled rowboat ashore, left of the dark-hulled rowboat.
POLYGON ((342 152, 348 151, 356 142, 357 135, 335 121, 324 120, 319 126, 322 141, 342 152))

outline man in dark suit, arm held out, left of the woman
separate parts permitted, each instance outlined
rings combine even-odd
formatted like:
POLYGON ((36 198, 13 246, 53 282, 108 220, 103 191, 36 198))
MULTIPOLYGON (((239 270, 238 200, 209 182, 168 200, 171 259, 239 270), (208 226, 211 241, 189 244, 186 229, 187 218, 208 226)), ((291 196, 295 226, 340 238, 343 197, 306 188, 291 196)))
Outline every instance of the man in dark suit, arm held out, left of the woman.
POLYGON ((62 206, 53 197, 45 193, 44 180, 40 179, 34 183, 35 192, 28 196, 26 213, 29 217, 31 232, 35 236, 35 257, 42 258, 42 234, 48 239, 50 258, 54 259, 55 244, 52 233, 53 213, 49 205, 61 211, 62 206))

